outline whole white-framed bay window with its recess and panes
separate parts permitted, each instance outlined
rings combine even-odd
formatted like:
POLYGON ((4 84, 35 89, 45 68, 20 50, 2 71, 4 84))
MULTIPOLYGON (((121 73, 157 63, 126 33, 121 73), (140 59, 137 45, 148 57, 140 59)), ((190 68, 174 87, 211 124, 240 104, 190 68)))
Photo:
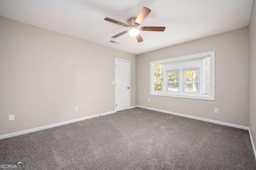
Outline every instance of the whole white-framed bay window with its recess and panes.
POLYGON ((150 62, 150 95, 215 100, 215 52, 150 62))

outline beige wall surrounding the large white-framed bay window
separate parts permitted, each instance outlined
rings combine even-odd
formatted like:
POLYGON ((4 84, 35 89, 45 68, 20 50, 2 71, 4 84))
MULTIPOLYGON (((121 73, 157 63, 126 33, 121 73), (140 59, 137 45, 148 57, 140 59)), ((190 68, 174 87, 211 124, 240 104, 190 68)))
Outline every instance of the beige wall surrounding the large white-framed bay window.
POLYGON ((248 126, 248 28, 144 53, 137 61, 137 105, 248 126), (150 61, 206 51, 215 51, 215 101, 150 96, 150 61))

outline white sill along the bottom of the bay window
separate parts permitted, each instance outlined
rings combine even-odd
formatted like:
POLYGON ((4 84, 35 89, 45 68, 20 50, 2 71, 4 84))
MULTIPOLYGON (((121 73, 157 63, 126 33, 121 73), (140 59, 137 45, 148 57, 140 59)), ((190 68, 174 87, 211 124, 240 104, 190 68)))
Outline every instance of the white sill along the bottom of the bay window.
POLYGON ((186 98, 186 99, 199 99, 199 100, 210 100, 215 101, 214 96, 201 96, 201 95, 177 95, 177 94, 170 94, 170 93, 150 93, 153 96, 164 96, 164 97, 178 97, 178 98, 186 98))

